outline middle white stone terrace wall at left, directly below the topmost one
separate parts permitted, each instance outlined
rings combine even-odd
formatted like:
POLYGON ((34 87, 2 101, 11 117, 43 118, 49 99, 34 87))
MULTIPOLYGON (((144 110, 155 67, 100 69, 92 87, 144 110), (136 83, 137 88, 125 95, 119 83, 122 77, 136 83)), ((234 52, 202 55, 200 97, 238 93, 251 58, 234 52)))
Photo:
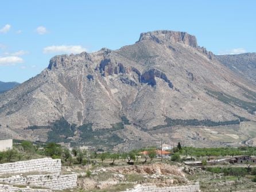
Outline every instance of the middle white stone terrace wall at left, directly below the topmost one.
POLYGON ((8 183, 11 185, 28 185, 43 187, 52 190, 71 189, 77 186, 77 175, 60 175, 60 174, 44 174, 44 175, 28 175, 22 177, 20 175, 0 178, 0 183, 8 183))

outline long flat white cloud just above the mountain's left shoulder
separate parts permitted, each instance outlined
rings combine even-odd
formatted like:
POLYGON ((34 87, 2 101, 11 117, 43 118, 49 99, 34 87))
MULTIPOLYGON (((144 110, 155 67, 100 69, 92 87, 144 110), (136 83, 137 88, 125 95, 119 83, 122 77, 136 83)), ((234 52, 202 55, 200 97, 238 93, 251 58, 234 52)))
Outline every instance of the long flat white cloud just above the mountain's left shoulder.
POLYGON ((81 53, 85 52, 86 48, 81 45, 59 45, 59 46, 46 46, 44 53, 81 53))

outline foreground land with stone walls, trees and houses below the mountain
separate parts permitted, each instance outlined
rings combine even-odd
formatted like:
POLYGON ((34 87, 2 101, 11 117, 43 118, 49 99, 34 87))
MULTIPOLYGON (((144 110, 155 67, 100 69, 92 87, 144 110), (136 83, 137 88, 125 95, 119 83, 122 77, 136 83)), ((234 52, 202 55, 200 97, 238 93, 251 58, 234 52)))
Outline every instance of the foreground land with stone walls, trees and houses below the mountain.
POLYGON ((250 188, 256 182, 255 151, 246 146, 193 148, 162 143, 117 153, 2 139, 0 191, 198 192, 210 191, 212 175, 223 181, 242 179, 241 185, 250 188), (208 183, 202 174, 208 175, 208 183))

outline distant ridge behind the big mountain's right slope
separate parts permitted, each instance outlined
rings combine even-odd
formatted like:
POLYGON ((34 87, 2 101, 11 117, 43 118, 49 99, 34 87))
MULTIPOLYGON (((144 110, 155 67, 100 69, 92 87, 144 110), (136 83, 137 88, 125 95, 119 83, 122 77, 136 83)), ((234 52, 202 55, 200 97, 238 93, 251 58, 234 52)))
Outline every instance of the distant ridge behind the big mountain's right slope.
POLYGON ((256 83, 256 53, 226 54, 216 58, 235 73, 256 83))

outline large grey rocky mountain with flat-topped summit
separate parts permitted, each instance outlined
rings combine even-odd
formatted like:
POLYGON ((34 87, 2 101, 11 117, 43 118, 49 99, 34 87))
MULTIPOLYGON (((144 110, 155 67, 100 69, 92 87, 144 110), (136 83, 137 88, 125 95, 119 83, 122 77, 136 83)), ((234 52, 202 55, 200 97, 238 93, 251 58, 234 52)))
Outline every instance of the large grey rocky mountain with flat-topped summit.
POLYGON ((161 30, 118 50, 53 57, 39 75, 0 95, 0 131, 118 150, 163 137, 216 146, 232 142, 232 130, 255 121, 255 111, 256 84, 197 45, 195 36, 161 30), (215 141, 207 134, 219 126, 231 134, 215 141))

